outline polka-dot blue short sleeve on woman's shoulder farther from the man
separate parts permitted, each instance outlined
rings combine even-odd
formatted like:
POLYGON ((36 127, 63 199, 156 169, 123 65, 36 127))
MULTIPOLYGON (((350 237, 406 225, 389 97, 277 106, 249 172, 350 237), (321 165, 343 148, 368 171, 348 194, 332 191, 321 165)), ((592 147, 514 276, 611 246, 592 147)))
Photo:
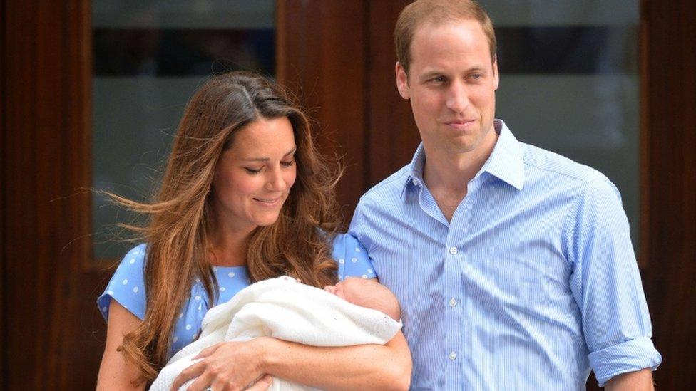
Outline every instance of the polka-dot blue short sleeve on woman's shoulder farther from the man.
POLYGON ((138 319, 145 317, 145 244, 133 247, 123 257, 104 293, 97 299, 99 312, 108 321, 111 300, 118 301, 138 319))

